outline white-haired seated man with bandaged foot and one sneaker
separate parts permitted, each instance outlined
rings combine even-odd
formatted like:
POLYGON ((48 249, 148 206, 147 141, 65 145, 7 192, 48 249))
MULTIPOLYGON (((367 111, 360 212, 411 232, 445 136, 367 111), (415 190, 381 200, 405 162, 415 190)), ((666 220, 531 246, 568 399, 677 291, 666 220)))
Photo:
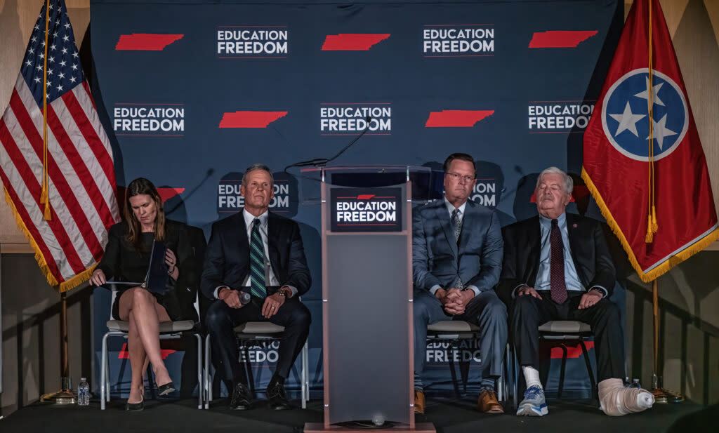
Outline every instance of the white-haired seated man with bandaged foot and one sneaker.
POLYGON ((566 213, 572 187, 572 178, 561 169, 545 169, 534 191, 539 215, 503 230, 497 292, 510 305, 510 335, 527 383, 517 415, 549 413, 536 370, 539 325, 549 320, 591 325, 605 414, 643 411, 654 397, 641 388, 623 387, 624 337, 619 309, 608 299, 616 276, 604 232, 597 220, 566 213))

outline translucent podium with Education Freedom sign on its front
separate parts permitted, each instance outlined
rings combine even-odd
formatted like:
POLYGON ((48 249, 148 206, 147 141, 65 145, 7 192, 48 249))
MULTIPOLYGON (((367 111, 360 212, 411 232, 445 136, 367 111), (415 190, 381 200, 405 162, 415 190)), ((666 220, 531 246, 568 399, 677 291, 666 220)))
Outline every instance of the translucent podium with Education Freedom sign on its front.
POLYGON ((321 205, 324 423, 304 431, 435 432, 414 422, 412 200, 426 167, 303 169, 321 205), (368 425, 369 424, 369 425, 368 425), (376 424, 380 424, 377 426, 376 424))

